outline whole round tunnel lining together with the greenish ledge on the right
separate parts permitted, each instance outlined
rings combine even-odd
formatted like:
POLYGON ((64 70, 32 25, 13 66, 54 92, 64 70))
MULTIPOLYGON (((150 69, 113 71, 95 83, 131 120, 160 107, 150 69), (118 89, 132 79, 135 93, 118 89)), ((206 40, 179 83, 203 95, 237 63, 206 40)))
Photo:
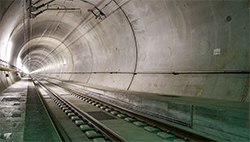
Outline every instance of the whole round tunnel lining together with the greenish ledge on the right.
POLYGON ((0 6, 1 102, 24 76, 81 84, 200 133, 249 141, 247 0, 0 0, 0 6))

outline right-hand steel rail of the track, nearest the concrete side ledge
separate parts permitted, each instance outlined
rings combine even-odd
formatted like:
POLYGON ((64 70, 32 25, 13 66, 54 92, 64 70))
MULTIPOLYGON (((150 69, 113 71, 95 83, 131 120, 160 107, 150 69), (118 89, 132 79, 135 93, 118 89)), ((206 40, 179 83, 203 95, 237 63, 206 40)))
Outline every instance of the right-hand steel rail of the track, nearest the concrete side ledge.
POLYGON ((127 114, 127 115, 129 115, 131 117, 134 117, 134 118, 136 118, 138 120, 144 121, 144 122, 146 122, 146 123, 148 123, 148 124, 150 124, 152 126, 156 126, 156 127, 160 128, 163 131, 166 131, 166 132, 170 131, 172 134, 174 134, 177 137, 180 137, 182 139, 187 138, 188 140, 191 140, 191 141, 209 141, 209 142, 215 142, 216 141, 216 140, 207 138, 205 136, 193 133, 191 131, 188 131, 188 130, 185 130, 185 129, 173 126, 171 124, 167 124, 167 123, 161 122, 159 120, 155 120, 153 118, 150 118, 150 117, 145 116, 143 114, 139 114, 139 113, 137 113, 135 111, 132 111, 132 110, 120 107, 118 105, 107 103, 107 102, 104 102, 102 100, 96 99, 94 97, 90 97, 90 96, 84 95, 81 92, 75 91, 73 89, 70 89, 70 88, 67 88, 67 87, 64 87, 64 86, 61 86, 61 85, 58 85, 58 84, 55 84, 53 82, 50 82, 50 81, 47 81, 47 82, 49 82, 51 84, 54 84, 56 86, 59 86, 59 87, 65 89, 65 90, 68 90, 68 91, 72 92, 72 93, 75 93, 75 94, 87 97, 87 98, 89 98, 89 99, 91 99, 93 101, 96 101, 96 102, 100 103, 100 104, 105 104, 106 106, 108 106, 110 108, 118 110, 118 111, 120 111, 122 113, 125 113, 125 114, 127 114))

